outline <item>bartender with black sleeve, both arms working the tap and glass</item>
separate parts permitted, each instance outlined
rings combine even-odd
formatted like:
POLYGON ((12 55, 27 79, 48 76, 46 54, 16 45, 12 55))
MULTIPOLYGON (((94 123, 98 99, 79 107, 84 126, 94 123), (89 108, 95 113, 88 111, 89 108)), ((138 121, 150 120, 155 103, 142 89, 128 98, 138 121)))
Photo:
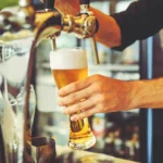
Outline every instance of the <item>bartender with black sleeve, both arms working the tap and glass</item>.
MULTIPOLYGON (((78 0, 57 0, 55 8, 66 14, 79 12, 78 0)), ((163 0, 139 0, 130 3, 123 12, 106 15, 90 7, 99 22, 96 40, 115 50, 124 50, 136 40, 146 39, 163 27, 163 0)), ((163 108, 163 77, 124 82, 102 75, 70 84, 59 90, 60 105, 65 106, 64 114, 71 114, 77 121, 96 113, 127 111, 135 108, 163 108), (80 99, 86 99, 80 101, 80 99), (74 104, 75 103, 75 104, 74 104), (83 110, 85 109, 85 110, 83 110), (82 112, 78 112, 78 110, 82 112)), ((153 136, 153 163, 162 163, 163 113, 155 110, 159 121, 153 136), (159 116, 158 116, 159 115, 159 116)))

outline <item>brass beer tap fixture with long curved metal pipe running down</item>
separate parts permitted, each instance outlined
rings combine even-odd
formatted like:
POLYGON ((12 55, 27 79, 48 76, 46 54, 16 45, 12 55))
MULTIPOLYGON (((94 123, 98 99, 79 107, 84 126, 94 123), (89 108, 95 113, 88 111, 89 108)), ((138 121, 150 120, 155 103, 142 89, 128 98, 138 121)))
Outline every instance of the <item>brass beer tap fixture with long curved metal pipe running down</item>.
MULTIPOLYGON (((61 32, 74 33, 78 38, 91 38, 92 49, 95 52, 95 61, 98 64, 98 51, 95 40, 95 34, 98 30, 98 21, 92 12, 89 11, 89 0, 80 0, 80 12, 76 15, 62 15, 53 11, 54 0, 45 0, 45 10, 35 11, 32 0, 20 0, 16 13, 11 11, 0 12, 0 41, 11 41, 34 37, 30 47, 30 54, 26 77, 26 99, 24 109, 24 155, 26 155, 26 130, 29 128, 28 99, 29 86, 34 66, 35 47, 42 40, 50 38, 52 40, 53 50, 57 49, 55 38, 61 32)), ((16 54, 16 53, 15 53, 16 54)), ((0 62, 9 60, 13 54, 3 52, 0 46, 0 62)), ((24 156, 25 158, 25 156, 24 156)), ((25 161, 24 161, 25 162, 25 161)))

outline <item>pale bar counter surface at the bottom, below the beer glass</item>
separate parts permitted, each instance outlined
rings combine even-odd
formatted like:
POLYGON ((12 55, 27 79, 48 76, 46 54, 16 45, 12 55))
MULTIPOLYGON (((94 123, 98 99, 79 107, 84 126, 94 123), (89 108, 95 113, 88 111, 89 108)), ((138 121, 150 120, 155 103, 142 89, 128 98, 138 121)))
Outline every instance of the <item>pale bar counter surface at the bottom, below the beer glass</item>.
POLYGON ((138 163, 135 161, 117 159, 103 153, 74 151, 71 150, 68 147, 62 146, 57 146, 57 156, 62 158, 59 163, 138 163))

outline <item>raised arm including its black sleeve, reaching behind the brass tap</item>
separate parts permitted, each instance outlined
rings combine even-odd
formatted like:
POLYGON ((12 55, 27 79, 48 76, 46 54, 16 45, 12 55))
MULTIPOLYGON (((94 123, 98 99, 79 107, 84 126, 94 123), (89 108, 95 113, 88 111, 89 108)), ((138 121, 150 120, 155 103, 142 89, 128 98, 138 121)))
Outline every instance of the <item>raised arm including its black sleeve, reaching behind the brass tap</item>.
POLYGON ((97 40, 122 51, 136 40, 156 34, 163 27, 160 16, 163 14, 162 9, 162 0, 154 1, 150 5, 146 1, 135 1, 123 12, 111 16, 91 9, 100 24, 97 40))

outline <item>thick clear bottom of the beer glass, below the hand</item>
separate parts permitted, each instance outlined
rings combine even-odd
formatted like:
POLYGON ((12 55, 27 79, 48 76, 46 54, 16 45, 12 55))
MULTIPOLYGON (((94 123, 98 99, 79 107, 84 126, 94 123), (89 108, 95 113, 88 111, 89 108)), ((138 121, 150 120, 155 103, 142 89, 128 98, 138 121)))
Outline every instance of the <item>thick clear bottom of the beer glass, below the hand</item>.
POLYGON ((86 150, 91 148, 96 143, 96 137, 92 136, 90 139, 70 139, 68 147, 73 150, 86 150))

